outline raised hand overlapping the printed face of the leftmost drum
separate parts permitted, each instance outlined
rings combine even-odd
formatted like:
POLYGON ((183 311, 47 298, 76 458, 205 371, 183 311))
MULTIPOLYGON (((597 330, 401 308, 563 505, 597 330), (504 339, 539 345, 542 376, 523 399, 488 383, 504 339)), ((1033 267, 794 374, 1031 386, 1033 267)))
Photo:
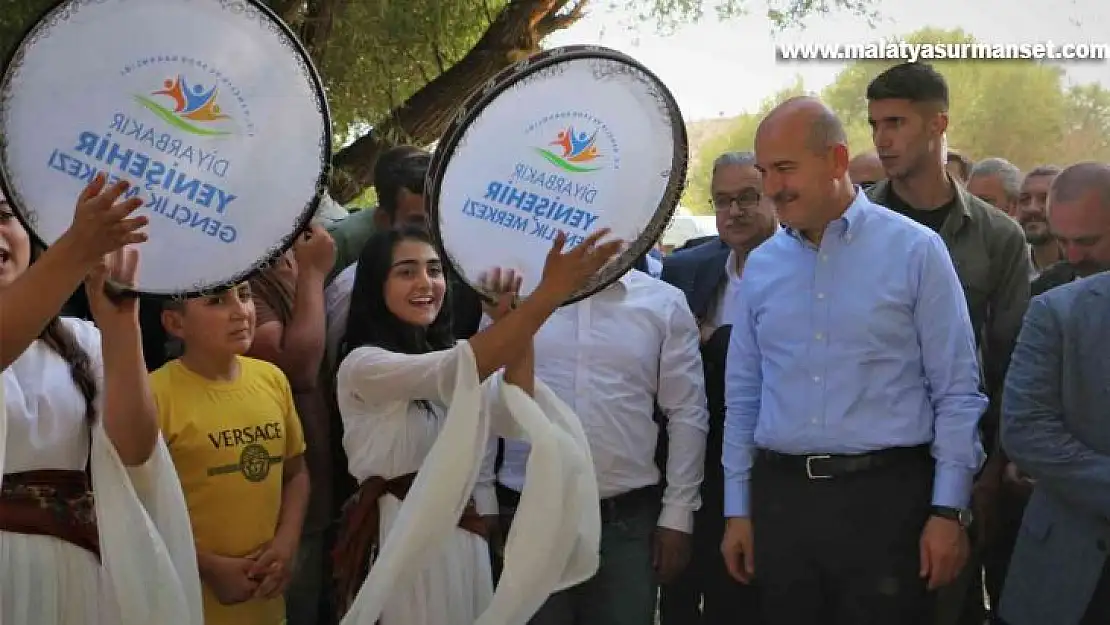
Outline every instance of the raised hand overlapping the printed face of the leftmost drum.
POLYGON ((131 184, 120 181, 105 185, 107 178, 100 173, 84 188, 77 200, 73 223, 59 240, 59 243, 69 243, 65 246, 89 265, 101 262, 107 254, 124 245, 147 241, 147 233, 140 229, 149 219, 130 216, 142 206, 142 200, 138 196, 120 200, 131 184))

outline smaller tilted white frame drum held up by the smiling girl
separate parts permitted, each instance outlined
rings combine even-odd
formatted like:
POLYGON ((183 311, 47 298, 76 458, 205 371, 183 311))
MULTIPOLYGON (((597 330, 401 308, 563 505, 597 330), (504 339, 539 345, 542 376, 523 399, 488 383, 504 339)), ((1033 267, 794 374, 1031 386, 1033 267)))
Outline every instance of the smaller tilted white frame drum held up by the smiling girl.
POLYGON ((481 292, 493 268, 543 273, 552 240, 598 229, 628 246, 567 303, 627 272, 663 233, 686 178, 686 125, 667 88, 605 48, 543 52, 498 74, 436 148, 426 201, 453 271, 481 292))

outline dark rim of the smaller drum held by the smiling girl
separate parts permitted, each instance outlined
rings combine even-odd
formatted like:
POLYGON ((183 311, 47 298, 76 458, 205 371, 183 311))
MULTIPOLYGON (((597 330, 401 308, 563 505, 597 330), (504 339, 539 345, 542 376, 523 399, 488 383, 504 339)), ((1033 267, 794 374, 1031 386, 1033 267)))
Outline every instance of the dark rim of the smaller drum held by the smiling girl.
MULTIPOLYGON (((428 163, 427 175, 425 179, 426 192, 424 194, 424 208, 428 215, 428 229, 432 234, 432 240, 435 242, 436 250, 441 255, 443 264, 447 268, 452 278, 454 278, 454 282, 471 289, 483 300, 487 300, 487 295, 474 284, 471 284, 471 282, 463 276, 462 271, 457 268, 457 263, 454 258, 452 258, 451 253, 446 249, 446 245, 444 245, 442 224, 440 220, 440 195, 442 192, 444 174, 451 163, 451 155, 457 149, 458 143, 466 134, 466 131, 474 124, 474 121, 477 120, 485 109, 490 107, 490 104, 503 92, 539 70, 558 63, 582 59, 602 59, 625 63, 643 73, 654 83, 659 91, 663 104, 670 113, 670 133, 674 143, 674 154, 670 165, 670 178, 667 180, 667 185, 664 189, 663 196, 659 199, 659 205, 655 210, 652 222, 648 223, 643 230, 640 236, 634 241, 627 250, 620 253, 616 261, 618 263, 626 264, 627 269, 624 272, 612 272, 613 275, 592 281, 579 292, 573 294, 569 299, 567 299, 567 301, 563 302, 562 305, 569 305, 585 300, 586 298, 605 290, 614 282, 620 280, 620 278, 628 271, 633 271, 635 262, 639 260, 640 256, 646 254, 655 242, 663 235, 663 232, 667 229, 667 225, 674 218, 675 210, 678 208, 678 201, 686 188, 686 173, 687 168, 689 167, 689 143, 686 133, 686 123, 683 119, 682 110, 678 108, 678 102, 675 100, 670 89, 668 89, 667 85, 659 80, 659 77, 628 54, 618 52, 610 48, 605 48, 603 46, 564 46, 545 50, 528 57, 527 59, 497 72, 496 75, 486 81, 485 85, 481 90, 475 91, 464 101, 462 107, 460 107, 458 112, 455 114, 455 119, 452 121, 447 131, 444 132, 443 138, 436 145, 435 151, 432 154, 432 161, 428 163), (648 234, 650 236, 648 236, 648 234)), ((595 274, 595 276, 596 275, 603 275, 603 273, 599 272, 598 274, 595 274)))

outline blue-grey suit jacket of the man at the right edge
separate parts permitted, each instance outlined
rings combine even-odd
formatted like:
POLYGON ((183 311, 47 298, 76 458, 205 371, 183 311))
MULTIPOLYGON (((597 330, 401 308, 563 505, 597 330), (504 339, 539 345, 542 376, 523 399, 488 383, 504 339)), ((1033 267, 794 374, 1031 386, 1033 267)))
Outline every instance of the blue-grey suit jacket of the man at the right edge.
POLYGON ((1009 625, 1077 625, 1110 544, 1110 273, 1029 305, 1002 446, 1036 481, 1002 593, 1009 625))

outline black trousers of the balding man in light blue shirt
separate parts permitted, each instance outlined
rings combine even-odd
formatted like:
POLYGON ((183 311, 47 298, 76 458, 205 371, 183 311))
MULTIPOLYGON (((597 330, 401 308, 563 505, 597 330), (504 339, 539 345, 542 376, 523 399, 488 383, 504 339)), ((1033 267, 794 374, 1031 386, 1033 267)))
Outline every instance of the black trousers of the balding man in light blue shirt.
POLYGON ((764 623, 928 623, 918 573, 932 472, 927 452, 827 480, 757 455, 751 521, 764 623))

